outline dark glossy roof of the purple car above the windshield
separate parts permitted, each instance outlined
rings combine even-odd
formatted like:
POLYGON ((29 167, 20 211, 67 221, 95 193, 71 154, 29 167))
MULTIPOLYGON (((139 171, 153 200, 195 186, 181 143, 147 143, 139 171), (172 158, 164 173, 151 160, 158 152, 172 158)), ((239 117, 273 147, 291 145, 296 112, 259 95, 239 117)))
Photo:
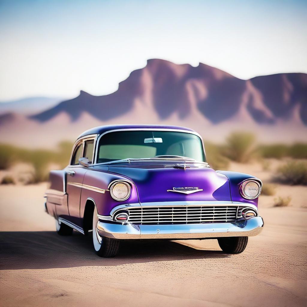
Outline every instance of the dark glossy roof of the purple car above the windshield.
POLYGON ((110 130, 118 130, 118 129, 176 129, 176 130, 186 130, 186 131, 193 131, 193 129, 189 129, 186 127, 181 126, 170 126, 170 125, 106 125, 106 126, 98 126, 95 128, 91 128, 89 130, 84 131, 81 133, 78 138, 82 138, 89 134, 102 134, 106 131, 110 130))

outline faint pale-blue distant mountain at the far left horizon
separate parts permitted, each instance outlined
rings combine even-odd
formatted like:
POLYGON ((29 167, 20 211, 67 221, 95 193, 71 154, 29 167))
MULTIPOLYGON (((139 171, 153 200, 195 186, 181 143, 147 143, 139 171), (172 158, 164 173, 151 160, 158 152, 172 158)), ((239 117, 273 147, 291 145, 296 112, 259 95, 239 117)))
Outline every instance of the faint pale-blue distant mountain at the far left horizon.
POLYGON ((0 102, 0 114, 17 112, 31 115, 50 109, 63 99, 58 97, 29 97, 11 101, 0 102))

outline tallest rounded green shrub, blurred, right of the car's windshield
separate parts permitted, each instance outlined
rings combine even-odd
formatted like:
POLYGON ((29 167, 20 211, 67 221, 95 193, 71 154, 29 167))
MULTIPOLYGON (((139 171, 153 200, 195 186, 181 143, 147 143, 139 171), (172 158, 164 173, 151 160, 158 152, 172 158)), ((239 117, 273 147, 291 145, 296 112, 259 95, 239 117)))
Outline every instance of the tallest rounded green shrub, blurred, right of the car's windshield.
POLYGON ((233 132, 226 139, 223 154, 229 159, 241 163, 250 161, 255 157, 254 134, 248 132, 233 132))

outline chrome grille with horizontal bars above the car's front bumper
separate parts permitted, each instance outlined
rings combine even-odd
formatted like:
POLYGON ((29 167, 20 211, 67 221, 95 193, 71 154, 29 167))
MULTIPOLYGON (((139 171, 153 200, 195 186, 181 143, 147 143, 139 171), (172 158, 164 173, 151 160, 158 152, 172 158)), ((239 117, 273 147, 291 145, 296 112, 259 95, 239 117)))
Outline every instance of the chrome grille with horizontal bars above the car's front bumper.
POLYGON ((237 206, 177 206, 129 208, 136 224, 226 223, 236 220, 237 206))

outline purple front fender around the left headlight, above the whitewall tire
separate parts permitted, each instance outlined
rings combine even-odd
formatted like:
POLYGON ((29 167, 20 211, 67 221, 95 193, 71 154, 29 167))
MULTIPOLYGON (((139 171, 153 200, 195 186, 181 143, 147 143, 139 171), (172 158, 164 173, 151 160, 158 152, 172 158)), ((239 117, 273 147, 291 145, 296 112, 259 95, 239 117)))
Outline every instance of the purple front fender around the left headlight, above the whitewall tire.
POLYGON ((114 180, 129 180, 129 178, 114 173, 109 173, 108 167, 106 167, 105 170, 91 169, 85 174, 83 185, 105 189, 106 191, 102 193, 82 188, 81 199, 80 199, 81 219, 84 216, 84 208, 88 199, 95 201, 99 215, 110 215, 111 210, 121 204, 139 203, 136 186, 131 180, 129 180, 131 182, 130 197, 123 202, 114 200, 111 197, 110 191, 108 190, 109 184, 114 180))

